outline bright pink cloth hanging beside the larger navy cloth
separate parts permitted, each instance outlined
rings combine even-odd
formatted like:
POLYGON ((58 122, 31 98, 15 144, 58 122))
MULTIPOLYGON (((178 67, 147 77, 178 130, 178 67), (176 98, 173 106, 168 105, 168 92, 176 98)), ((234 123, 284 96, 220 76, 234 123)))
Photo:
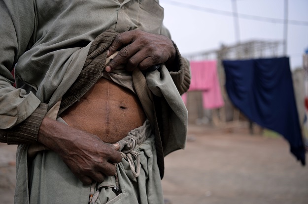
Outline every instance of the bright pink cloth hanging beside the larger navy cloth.
MULTIPOLYGON (((215 60, 190 61, 191 84, 188 91, 202 90, 203 107, 215 109, 224 106, 217 76, 217 62, 215 60)), ((186 94, 182 95, 186 103, 186 94)))

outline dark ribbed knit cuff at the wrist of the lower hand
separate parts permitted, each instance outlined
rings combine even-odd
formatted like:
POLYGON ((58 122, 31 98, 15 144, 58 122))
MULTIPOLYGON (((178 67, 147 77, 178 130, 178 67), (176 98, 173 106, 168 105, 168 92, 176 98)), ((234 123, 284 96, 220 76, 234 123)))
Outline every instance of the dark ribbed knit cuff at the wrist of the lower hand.
MULTIPOLYGON (((23 122, 6 129, 6 143, 8 145, 30 144, 37 141, 39 126, 47 113, 48 105, 40 103, 35 111, 23 122)), ((3 139, 1 139, 2 142, 3 139)))

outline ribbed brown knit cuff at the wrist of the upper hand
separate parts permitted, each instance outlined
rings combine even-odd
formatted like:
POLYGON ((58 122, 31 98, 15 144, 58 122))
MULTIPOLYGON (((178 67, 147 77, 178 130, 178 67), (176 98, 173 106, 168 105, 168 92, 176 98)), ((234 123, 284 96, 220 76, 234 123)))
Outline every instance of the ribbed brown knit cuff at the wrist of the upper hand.
POLYGON ((188 90, 190 85, 190 64, 186 58, 182 58, 174 42, 173 45, 176 50, 175 63, 177 64, 178 71, 171 71, 170 75, 179 93, 182 95, 188 90))

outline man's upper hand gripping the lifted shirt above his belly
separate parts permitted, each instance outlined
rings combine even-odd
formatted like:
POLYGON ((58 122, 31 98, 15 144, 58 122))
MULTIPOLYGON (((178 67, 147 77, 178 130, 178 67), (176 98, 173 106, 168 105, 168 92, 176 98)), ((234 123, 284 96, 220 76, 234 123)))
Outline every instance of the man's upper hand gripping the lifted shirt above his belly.
POLYGON ((141 30, 118 34, 110 45, 107 56, 111 56, 118 49, 119 53, 105 68, 107 72, 123 63, 126 63, 128 71, 133 71, 136 67, 145 70, 152 65, 172 62, 176 54, 170 38, 141 30))

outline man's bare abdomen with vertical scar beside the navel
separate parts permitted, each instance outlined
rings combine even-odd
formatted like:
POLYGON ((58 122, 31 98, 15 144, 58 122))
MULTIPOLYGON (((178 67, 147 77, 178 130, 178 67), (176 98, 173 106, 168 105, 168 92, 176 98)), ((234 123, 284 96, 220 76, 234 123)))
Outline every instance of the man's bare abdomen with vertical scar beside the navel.
POLYGON ((95 134, 105 143, 118 142, 145 120, 137 96, 104 78, 61 117, 69 126, 95 134))

